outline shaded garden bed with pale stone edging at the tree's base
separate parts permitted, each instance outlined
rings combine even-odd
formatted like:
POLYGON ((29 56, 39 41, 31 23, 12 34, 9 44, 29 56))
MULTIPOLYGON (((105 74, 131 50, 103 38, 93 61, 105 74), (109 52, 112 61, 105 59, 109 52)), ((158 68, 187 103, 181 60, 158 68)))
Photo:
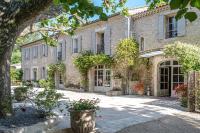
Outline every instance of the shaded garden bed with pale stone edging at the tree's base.
POLYGON ((15 113, 11 117, 0 119, 1 133, 35 133, 46 131, 53 127, 58 118, 41 118, 36 110, 31 107, 15 108, 15 113))

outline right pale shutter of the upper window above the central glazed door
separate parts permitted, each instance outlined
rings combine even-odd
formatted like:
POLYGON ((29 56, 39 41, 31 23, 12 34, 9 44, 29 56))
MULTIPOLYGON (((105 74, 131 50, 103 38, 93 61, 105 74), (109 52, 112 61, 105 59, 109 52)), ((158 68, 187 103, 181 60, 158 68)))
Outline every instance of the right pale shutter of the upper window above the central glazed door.
POLYGON ((110 44, 110 41, 111 41, 111 28, 110 26, 107 26, 106 28, 106 31, 104 33, 104 47, 105 47, 105 54, 106 55, 110 55, 111 54, 111 44, 110 44))

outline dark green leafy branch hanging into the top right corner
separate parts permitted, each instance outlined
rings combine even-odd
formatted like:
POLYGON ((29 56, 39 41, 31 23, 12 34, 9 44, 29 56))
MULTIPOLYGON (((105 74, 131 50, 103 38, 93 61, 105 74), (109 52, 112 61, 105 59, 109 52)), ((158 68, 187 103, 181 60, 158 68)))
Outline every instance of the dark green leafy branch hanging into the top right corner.
POLYGON ((150 4, 150 8, 163 3, 169 3, 172 10, 178 9, 176 19, 185 17, 190 22, 197 19, 197 14, 194 11, 191 11, 190 7, 200 10, 200 0, 146 0, 150 4))

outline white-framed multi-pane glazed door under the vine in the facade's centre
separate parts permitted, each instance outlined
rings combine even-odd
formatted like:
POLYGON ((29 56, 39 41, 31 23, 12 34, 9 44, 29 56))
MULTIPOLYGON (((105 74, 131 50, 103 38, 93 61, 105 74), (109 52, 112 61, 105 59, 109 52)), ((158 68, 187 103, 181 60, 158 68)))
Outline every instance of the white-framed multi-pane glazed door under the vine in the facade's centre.
POLYGON ((111 69, 108 66, 98 65, 95 67, 95 86, 111 86, 111 69))

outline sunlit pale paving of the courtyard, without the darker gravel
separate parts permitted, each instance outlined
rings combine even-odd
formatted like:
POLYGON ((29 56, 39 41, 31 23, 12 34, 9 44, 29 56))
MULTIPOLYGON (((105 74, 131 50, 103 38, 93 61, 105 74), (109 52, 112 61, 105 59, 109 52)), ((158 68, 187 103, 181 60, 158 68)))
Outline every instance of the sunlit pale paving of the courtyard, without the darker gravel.
MULTIPOLYGON (((101 109, 97 113, 96 127, 101 133, 115 133, 127 127, 129 128, 127 128, 125 132, 122 130, 119 133, 128 133, 129 131, 130 133, 134 133, 136 131, 133 130, 133 132, 131 130, 134 128, 134 125, 137 126, 139 124, 147 123, 148 126, 148 122, 150 123, 149 125, 153 125, 153 123, 159 123, 159 120, 163 121, 161 125, 165 125, 164 122, 166 120, 173 121, 171 118, 174 118, 173 116, 176 114, 187 116, 188 118, 195 115, 185 112, 184 108, 179 106, 179 102, 172 98, 156 98, 132 95, 109 97, 94 93, 79 93, 71 91, 60 92, 64 94, 65 98, 70 98, 70 100, 79 100, 80 98, 99 98, 101 100, 99 104, 101 109)), ((195 116, 195 118, 200 120, 199 115, 197 115, 197 117, 195 116)), ((67 115, 64 117, 63 122, 61 122, 57 127, 69 128, 69 121, 69 116, 67 115)), ((180 120, 177 119, 177 122, 178 121, 180 120)), ((187 123, 187 121, 185 123, 187 123)), ((142 129, 143 126, 141 125, 140 127, 142 129)), ((157 128, 156 126, 154 127, 155 129, 157 128)), ((174 128, 176 128, 176 126, 174 128)))

